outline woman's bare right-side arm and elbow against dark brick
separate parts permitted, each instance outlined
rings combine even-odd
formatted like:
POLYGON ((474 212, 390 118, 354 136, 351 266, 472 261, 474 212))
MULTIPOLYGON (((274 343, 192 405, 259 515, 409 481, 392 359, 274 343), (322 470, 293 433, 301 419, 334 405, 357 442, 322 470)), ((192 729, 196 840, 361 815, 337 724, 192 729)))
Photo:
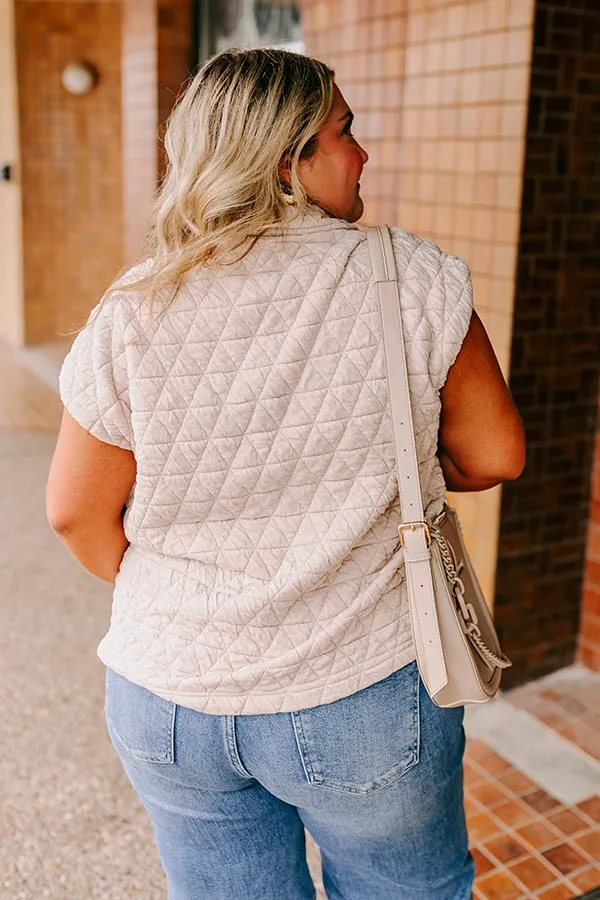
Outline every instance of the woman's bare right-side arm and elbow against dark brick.
POLYGON ((438 438, 450 491, 484 491, 525 466, 523 423, 477 313, 441 391, 438 438))

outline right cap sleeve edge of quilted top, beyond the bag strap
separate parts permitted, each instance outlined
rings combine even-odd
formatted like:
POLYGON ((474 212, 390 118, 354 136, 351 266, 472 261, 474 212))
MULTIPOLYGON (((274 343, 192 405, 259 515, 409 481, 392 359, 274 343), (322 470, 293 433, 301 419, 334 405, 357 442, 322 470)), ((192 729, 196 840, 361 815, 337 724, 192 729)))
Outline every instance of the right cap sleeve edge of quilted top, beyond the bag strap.
POLYGON ((442 254, 439 287, 442 334, 436 387, 441 390, 467 336, 473 314, 473 286, 466 262, 458 256, 442 254))

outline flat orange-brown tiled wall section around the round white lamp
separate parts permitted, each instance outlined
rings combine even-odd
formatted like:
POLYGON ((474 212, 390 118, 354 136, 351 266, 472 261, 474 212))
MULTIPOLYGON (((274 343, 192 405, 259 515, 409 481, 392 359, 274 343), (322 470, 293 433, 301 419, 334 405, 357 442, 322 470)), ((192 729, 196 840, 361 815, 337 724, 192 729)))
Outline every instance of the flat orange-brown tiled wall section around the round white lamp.
POLYGON ((122 263, 121 4, 15 3, 25 340, 56 340, 85 320, 122 263), (84 96, 67 63, 99 73, 84 96))

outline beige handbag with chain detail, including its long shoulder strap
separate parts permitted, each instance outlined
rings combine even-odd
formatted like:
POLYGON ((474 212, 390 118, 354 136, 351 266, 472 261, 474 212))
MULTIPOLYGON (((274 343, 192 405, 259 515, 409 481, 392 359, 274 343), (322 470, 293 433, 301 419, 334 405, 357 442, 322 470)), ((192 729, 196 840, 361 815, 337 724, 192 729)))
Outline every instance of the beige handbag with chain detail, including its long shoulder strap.
POLYGON ((511 665, 502 653, 455 510, 426 522, 412 423, 396 260, 386 226, 367 231, 379 290, 398 463, 406 583, 417 665, 438 706, 483 703, 511 665))

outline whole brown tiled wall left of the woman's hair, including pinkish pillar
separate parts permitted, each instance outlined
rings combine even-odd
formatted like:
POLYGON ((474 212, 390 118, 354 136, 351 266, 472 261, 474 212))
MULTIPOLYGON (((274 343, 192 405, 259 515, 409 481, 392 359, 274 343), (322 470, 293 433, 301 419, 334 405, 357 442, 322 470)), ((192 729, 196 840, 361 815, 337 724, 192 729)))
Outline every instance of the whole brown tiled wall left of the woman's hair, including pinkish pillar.
POLYGON ((24 245, 16 315, 25 342, 37 344, 79 327, 140 255, 162 165, 159 125, 189 72, 191 0, 17 0, 14 9, 24 245), (60 75, 81 59, 99 79, 77 97, 60 75))

